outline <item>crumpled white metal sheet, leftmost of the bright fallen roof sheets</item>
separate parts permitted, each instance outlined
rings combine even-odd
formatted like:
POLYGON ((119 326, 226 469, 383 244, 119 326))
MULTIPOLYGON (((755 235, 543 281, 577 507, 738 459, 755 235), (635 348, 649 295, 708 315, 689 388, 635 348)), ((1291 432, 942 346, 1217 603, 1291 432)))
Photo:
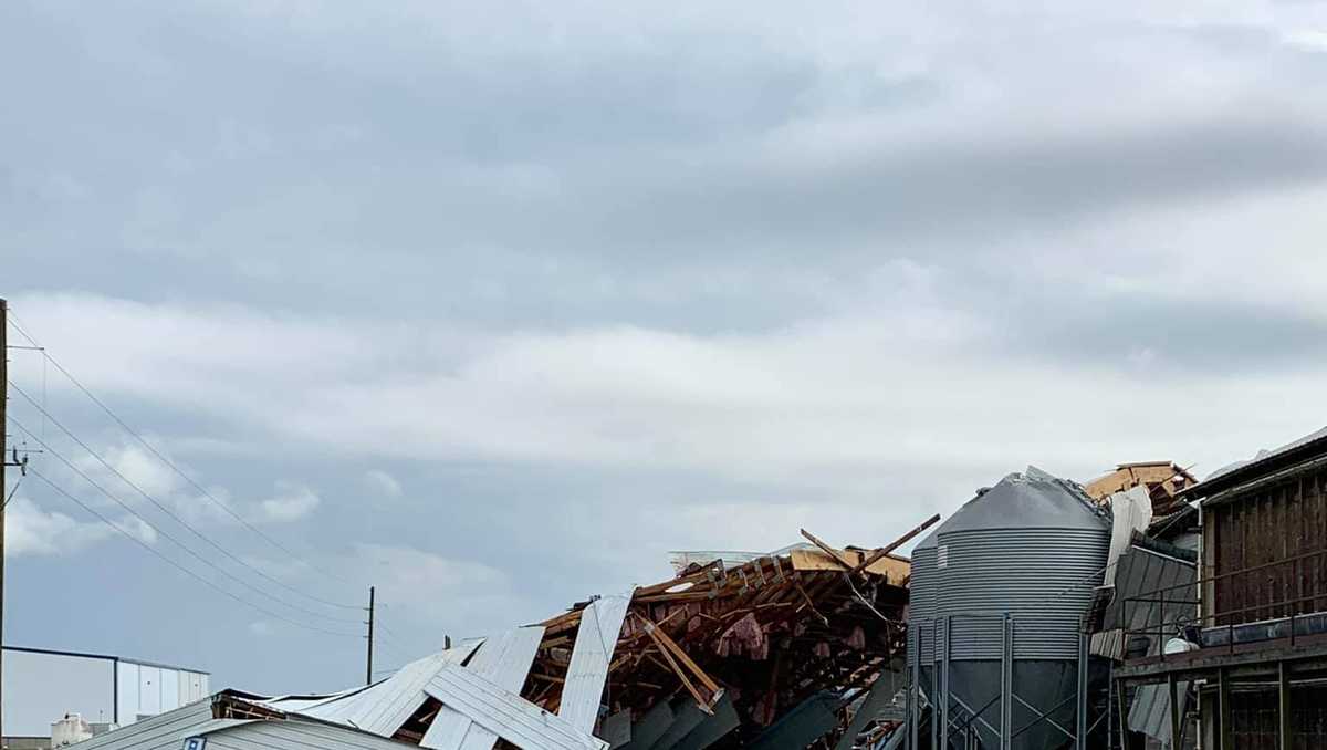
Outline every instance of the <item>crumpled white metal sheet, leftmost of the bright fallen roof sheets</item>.
POLYGON ((391 737, 425 701, 425 685, 447 665, 459 665, 480 641, 426 656, 402 666, 395 674, 353 694, 330 698, 300 713, 336 723, 391 737))

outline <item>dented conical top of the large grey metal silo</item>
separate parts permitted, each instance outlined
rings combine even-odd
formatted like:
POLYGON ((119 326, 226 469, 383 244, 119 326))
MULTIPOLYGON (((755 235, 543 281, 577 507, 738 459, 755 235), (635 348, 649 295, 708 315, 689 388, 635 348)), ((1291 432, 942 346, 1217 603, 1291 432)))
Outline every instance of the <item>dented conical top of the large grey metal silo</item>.
POLYGON ((1028 466, 1023 474, 1010 474, 969 500, 940 526, 936 535, 991 528, 1104 531, 1109 520, 1070 483, 1028 466))

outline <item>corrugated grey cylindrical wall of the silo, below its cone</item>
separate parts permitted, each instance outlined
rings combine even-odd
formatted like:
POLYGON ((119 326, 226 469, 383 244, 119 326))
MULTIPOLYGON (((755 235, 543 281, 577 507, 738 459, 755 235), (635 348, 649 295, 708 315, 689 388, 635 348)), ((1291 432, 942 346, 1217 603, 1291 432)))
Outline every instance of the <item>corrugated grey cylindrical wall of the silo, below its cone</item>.
POLYGON ((936 615, 954 616, 957 660, 1001 657, 1003 613, 1014 617, 1015 658, 1076 658, 1080 619, 1100 580, 1109 532, 1006 528, 940 532, 936 615))

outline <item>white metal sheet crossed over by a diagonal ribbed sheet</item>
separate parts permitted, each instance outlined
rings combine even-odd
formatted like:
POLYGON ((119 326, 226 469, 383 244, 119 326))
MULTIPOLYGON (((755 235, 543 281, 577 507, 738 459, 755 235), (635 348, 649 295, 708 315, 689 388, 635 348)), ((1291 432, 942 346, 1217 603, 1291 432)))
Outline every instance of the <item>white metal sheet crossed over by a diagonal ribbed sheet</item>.
MULTIPOLYGON (((541 627, 507 631, 486 640, 466 669, 486 677, 503 690, 519 693, 543 637, 541 627)), ((496 741, 498 735, 492 730, 445 705, 419 745, 434 750, 492 750, 496 741)))

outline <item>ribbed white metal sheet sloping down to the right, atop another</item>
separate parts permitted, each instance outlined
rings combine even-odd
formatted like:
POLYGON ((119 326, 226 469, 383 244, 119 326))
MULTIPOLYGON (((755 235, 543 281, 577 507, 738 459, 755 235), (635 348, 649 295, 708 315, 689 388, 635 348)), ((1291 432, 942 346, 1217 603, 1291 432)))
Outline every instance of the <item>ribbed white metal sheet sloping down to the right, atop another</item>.
POLYGON ((425 690, 523 750, 605 750, 608 743, 462 666, 438 670, 425 690))

